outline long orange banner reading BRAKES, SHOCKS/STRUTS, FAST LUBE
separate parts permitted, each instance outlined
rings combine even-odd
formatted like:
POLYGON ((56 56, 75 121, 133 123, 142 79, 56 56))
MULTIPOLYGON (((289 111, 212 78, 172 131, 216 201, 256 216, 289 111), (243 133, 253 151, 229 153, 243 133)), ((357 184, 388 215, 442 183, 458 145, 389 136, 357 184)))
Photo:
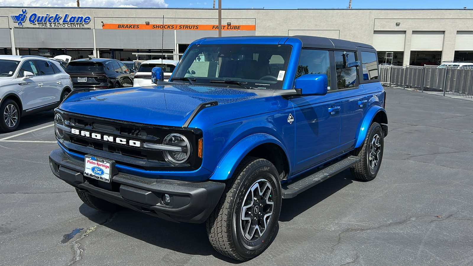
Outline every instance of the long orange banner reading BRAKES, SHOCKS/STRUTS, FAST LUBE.
MULTIPOLYGON (((218 30, 217 25, 189 24, 102 24, 104 29, 169 29, 169 30, 218 30)), ((222 30, 255 30, 254 25, 222 25, 222 30)))

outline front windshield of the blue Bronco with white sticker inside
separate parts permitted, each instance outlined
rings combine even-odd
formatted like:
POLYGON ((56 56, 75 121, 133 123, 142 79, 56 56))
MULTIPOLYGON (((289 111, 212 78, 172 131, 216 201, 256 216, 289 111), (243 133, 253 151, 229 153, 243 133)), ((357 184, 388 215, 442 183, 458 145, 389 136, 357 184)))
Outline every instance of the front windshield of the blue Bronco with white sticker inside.
POLYGON ((282 89, 291 46, 280 44, 200 44, 189 47, 173 75, 196 83, 253 89, 282 89), (237 82, 235 82, 237 81, 237 82))

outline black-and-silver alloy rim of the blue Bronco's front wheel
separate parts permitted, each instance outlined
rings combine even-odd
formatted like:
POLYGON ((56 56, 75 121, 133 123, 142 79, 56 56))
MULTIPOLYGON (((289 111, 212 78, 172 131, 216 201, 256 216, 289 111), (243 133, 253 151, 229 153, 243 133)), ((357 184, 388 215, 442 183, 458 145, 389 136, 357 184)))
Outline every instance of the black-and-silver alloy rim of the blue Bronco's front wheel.
POLYGON ((274 213, 272 186, 266 179, 254 182, 246 192, 240 215, 240 231, 248 241, 259 239, 274 213))

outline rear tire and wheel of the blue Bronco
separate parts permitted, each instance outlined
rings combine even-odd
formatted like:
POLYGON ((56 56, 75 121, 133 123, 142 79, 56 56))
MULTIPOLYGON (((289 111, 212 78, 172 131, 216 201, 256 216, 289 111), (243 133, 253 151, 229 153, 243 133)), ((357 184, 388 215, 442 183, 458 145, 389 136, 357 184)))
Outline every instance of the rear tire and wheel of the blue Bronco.
POLYGON ((359 163, 350 167, 353 177, 364 181, 375 179, 383 160, 383 150, 383 128, 374 122, 369 127, 363 145, 352 152, 361 158, 359 163))

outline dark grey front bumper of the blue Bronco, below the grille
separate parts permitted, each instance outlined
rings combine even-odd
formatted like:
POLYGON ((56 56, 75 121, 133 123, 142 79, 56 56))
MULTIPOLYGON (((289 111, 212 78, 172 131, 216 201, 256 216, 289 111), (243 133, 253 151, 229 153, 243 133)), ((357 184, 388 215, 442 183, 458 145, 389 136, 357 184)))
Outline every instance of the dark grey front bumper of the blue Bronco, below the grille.
POLYGON ((84 162, 67 156, 61 149, 51 151, 53 174, 75 188, 106 201, 173 222, 205 222, 220 200, 225 183, 188 182, 139 177, 116 173, 111 183, 83 176, 84 162), (171 196, 165 204, 162 195, 171 196))

